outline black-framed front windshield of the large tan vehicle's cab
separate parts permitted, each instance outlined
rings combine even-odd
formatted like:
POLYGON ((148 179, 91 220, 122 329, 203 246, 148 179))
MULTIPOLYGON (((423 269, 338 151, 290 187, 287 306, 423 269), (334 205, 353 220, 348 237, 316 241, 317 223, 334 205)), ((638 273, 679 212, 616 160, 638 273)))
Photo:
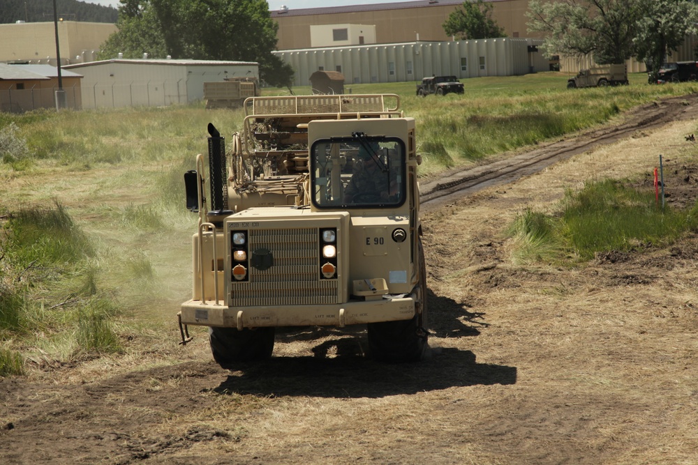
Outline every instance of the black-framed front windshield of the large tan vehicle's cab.
POLYGON ((313 204, 320 208, 399 206, 405 148, 394 137, 320 140, 311 149, 313 204))

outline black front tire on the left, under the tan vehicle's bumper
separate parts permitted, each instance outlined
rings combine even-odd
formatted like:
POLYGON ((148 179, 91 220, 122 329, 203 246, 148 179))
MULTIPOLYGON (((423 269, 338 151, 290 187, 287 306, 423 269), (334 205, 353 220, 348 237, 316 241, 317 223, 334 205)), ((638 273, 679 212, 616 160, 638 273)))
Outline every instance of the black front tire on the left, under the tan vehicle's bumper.
POLYGON ((209 328, 214 360, 226 368, 239 362, 263 360, 274 351, 274 328, 209 328))

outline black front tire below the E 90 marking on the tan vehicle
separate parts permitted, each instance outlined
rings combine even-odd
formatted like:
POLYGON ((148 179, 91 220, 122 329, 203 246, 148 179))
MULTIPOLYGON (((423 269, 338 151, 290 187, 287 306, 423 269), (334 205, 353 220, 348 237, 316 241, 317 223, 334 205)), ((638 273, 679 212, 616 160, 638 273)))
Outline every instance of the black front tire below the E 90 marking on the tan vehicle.
POLYGON ((419 242, 419 284, 415 288, 417 305, 422 311, 408 320, 369 323, 369 351, 371 357, 383 362, 417 362, 422 360, 429 346, 426 327, 426 266, 424 250, 419 242))

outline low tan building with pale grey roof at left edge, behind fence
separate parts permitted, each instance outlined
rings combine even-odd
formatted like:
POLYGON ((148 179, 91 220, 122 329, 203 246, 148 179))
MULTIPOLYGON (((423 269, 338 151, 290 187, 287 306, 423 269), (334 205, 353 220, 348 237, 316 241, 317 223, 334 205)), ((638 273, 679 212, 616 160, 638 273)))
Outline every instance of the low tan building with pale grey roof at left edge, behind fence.
MULTIPOLYGON (((61 70, 67 108, 82 108, 81 79, 82 75, 61 70)), ((55 108, 58 84, 58 68, 55 66, 0 63, 0 111, 21 113, 55 108)))

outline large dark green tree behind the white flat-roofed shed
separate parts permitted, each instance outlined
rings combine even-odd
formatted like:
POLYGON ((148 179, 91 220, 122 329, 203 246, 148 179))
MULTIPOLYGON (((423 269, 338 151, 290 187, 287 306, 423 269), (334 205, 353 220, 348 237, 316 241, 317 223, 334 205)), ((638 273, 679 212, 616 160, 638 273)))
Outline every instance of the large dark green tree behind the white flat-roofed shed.
POLYGON ((117 26, 101 57, 256 61, 267 84, 292 81, 290 65, 272 54, 279 25, 265 0, 121 0, 117 26))

